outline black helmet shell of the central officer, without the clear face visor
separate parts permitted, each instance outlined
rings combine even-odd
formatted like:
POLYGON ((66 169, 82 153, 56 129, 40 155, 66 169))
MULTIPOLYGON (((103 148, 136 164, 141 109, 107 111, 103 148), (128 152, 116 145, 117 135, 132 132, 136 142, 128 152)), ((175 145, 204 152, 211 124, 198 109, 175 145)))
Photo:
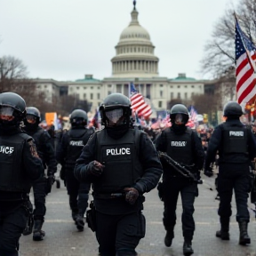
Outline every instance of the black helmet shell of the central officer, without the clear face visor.
POLYGON ((108 124, 109 117, 106 116, 106 112, 114 109, 122 110, 120 115, 124 116, 123 124, 130 124, 130 116, 132 116, 131 100, 122 93, 109 94, 100 104, 101 124, 108 124))

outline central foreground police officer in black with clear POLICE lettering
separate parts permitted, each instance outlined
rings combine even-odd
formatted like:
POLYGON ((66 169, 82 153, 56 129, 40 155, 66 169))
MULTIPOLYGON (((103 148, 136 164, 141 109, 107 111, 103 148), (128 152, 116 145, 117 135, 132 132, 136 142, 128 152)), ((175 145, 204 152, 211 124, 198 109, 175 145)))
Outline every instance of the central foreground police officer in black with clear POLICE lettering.
POLYGON ((148 135, 131 127, 131 101, 112 93, 100 105, 104 129, 76 161, 78 180, 92 181, 100 256, 133 256, 145 236, 143 194, 156 188, 162 165, 148 135), (107 232, 107 233, 106 233, 107 232))

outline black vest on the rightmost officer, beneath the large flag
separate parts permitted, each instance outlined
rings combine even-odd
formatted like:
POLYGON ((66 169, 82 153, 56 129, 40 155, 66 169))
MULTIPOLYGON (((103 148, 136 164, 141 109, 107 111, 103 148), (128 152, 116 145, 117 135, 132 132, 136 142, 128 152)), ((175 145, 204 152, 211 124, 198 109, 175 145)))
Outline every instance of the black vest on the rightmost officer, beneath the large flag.
POLYGON ((248 158, 248 133, 245 126, 234 126, 224 123, 222 125, 222 157, 220 162, 230 162, 228 156, 232 155, 232 162, 245 163, 248 158), (234 154, 237 157, 234 158, 234 154))

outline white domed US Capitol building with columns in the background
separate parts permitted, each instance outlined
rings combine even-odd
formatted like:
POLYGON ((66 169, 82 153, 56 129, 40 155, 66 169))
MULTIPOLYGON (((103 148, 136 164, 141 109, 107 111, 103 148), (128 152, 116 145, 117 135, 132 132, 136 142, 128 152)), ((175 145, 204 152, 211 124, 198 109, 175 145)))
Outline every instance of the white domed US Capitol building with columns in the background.
POLYGON ((176 78, 159 76, 155 45, 148 31, 140 26, 135 1, 131 16, 129 26, 124 28, 115 47, 116 56, 111 60, 112 76, 99 80, 88 74, 75 82, 38 78, 35 79, 37 90, 46 92, 50 102, 52 96, 63 94, 87 100, 94 112, 110 93, 121 92, 129 97, 129 84, 132 82, 151 105, 154 116, 156 111, 165 110, 170 100, 190 100, 193 94, 204 94, 205 86, 209 84, 207 81, 187 77, 184 73, 176 78))

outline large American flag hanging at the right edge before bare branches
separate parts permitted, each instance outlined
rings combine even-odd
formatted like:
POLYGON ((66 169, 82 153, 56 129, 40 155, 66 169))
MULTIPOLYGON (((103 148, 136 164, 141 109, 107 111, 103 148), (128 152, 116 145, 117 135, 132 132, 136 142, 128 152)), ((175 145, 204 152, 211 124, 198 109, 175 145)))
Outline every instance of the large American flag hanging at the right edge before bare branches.
POLYGON ((256 47, 245 36, 236 19, 236 93, 242 108, 256 94, 255 60, 256 47))

